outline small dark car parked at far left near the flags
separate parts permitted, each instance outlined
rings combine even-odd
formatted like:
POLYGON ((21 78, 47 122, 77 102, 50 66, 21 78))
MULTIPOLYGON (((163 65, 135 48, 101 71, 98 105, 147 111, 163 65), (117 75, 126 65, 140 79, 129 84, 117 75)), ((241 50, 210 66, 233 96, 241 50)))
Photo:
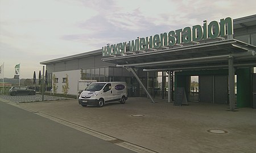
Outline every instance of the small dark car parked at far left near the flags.
POLYGON ((27 86, 12 86, 9 90, 9 94, 11 96, 15 96, 16 94, 35 95, 35 90, 28 89, 27 86))

